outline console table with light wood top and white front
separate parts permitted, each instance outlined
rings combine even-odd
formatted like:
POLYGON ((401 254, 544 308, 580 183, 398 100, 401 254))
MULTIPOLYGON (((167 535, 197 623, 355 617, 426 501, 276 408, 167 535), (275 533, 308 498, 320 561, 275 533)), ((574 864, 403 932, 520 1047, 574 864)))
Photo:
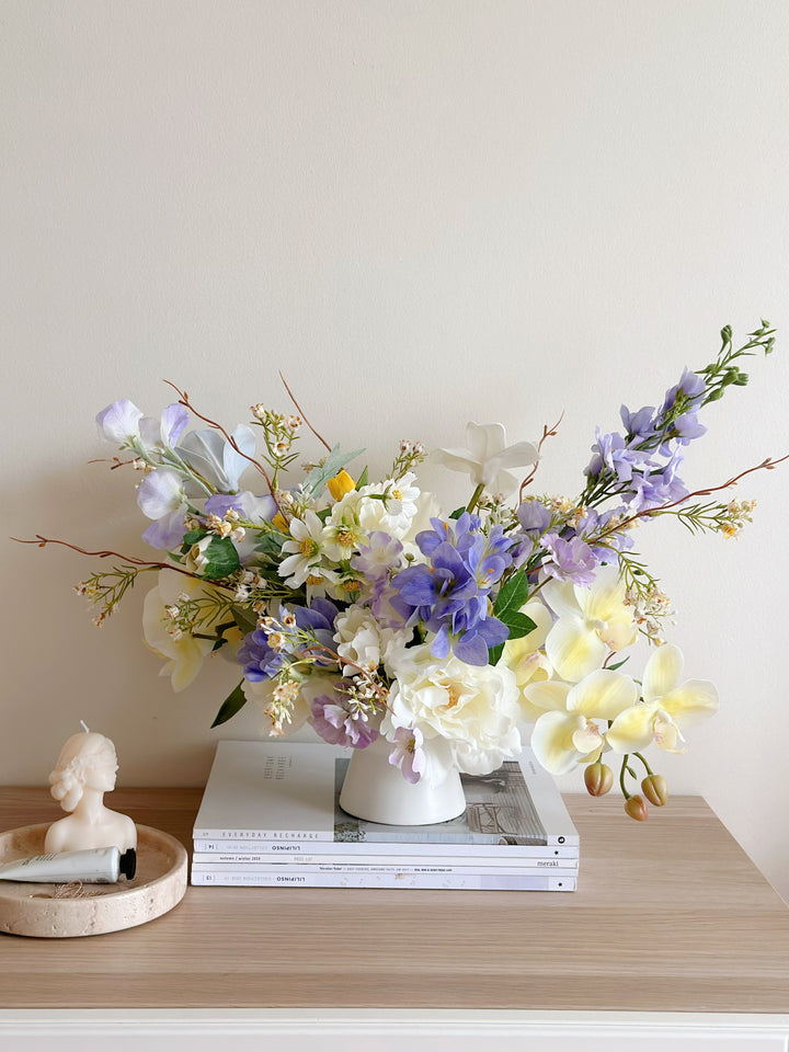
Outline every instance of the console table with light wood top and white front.
MULTIPOLYGON (((111 803, 190 847, 199 798, 127 789, 111 803)), ((739 1034, 737 1052, 787 1052, 789 908, 707 804, 677 798, 638 824, 613 797, 567 803, 571 894, 190 887, 126 931, 2 935, 0 1049, 50 1050, 57 1034, 60 1050, 125 1037, 195 1052, 232 1036, 245 1052, 265 1036, 270 1050, 320 1037, 322 1052, 402 1052, 408 1033, 432 1052, 482 1036, 559 1052, 596 1050, 592 1034, 632 1047, 636 1027, 640 1050, 650 1034, 699 1050, 739 1034)), ((0 789, 0 830, 59 813, 45 789, 0 789)))

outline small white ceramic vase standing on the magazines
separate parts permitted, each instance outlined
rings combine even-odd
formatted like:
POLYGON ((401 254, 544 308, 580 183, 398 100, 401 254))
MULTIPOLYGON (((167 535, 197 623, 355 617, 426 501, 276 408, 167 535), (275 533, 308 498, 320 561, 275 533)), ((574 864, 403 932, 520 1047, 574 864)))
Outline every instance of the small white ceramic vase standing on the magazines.
POLYGON ((466 798, 457 768, 437 786, 425 778, 412 784, 389 763, 391 751, 382 736, 354 750, 340 791, 343 811, 384 825, 432 825, 464 813, 466 798))

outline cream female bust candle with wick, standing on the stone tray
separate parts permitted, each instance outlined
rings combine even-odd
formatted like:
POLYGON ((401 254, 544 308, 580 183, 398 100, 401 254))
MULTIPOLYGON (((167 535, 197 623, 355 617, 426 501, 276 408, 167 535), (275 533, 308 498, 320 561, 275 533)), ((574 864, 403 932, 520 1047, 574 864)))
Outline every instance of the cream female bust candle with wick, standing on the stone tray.
POLYGON ((71 735, 49 775, 53 797, 71 813, 49 826, 45 851, 117 847, 123 853, 137 847, 137 827, 132 819, 104 807, 104 793, 115 788, 116 771, 115 746, 108 737, 87 727, 71 735))

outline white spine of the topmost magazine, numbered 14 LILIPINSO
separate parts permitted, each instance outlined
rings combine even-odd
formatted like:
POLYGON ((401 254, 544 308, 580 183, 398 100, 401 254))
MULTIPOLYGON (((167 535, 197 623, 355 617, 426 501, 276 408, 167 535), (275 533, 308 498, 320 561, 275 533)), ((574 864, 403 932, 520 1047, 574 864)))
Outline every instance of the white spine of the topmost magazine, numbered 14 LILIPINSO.
POLYGON ((300 843, 281 843, 259 839, 193 839, 195 851, 201 854, 253 854, 271 855, 284 859, 293 858, 296 860, 300 856, 309 855, 341 855, 343 858, 366 858, 367 856, 393 855, 397 858, 404 856, 430 856, 438 858, 443 856, 464 858, 506 858, 518 861, 522 858, 578 858, 578 844, 563 844, 557 847, 548 847, 545 844, 432 844, 428 841, 422 843, 405 844, 368 844, 368 843, 346 843, 344 841, 329 841, 310 844, 300 843))

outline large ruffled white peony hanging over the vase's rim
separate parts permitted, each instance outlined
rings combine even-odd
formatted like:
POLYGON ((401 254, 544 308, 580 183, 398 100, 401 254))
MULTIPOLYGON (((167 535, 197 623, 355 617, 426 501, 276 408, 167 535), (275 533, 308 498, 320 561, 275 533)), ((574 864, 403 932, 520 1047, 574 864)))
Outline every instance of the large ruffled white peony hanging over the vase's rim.
POLYGON ((400 727, 422 732, 433 785, 453 766, 485 775, 518 755, 519 691, 510 668, 477 667, 455 656, 436 661, 428 645, 404 651, 393 668, 381 732, 390 740, 400 727))

